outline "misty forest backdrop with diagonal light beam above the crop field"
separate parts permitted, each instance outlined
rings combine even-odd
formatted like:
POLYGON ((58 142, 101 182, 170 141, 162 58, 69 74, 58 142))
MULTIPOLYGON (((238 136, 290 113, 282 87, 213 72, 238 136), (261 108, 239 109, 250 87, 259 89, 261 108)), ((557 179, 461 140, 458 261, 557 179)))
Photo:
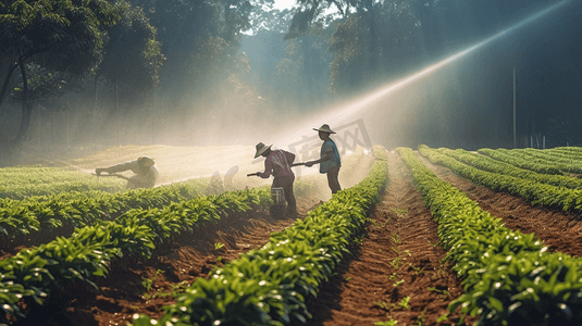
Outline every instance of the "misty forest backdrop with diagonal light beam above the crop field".
MULTIPOLYGON (((99 9, 92 32, 11 21, 24 13, 1 8, 2 164, 126 145, 288 148, 324 123, 360 120, 370 143, 388 149, 582 145, 579 2, 350 3, 120 1, 99 9)), ((347 131, 363 143, 359 129, 336 137, 347 131)))

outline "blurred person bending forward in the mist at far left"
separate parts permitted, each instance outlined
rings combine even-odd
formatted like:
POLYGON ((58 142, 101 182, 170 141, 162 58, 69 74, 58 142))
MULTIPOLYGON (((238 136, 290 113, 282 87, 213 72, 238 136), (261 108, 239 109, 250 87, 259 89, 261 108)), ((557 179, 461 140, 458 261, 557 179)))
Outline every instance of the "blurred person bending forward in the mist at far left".
POLYGON ((109 167, 98 167, 95 170, 95 173, 101 175, 103 172, 111 174, 131 170, 135 175, 127 179, 127 189, 152 188, 159 175, 154 164, 152 158, 139 156, 135 161, 128 161, 109 167))

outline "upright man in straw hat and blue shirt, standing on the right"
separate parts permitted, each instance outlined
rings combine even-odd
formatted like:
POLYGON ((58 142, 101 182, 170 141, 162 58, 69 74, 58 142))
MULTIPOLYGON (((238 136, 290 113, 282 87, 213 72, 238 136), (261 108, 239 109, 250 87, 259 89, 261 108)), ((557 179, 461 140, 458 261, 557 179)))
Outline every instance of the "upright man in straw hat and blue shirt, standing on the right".
POLYGON ((336 193, 342 190, 342 186, 339 186, 339 180, 337 179, 339 167, 342 167, 342 160, 339 159, 337 146, 330 138, 330 135, 335 134, 335 131, 326 124, 322 125, 319 129, 313 128, 313 130, 319 131, 320 139, 323 140, 320 159, 306 162, 305 165, 311 167, 313 164, 319 164, 320 173, 327 174, 327 185, 330 185, 332 193, 336 193))

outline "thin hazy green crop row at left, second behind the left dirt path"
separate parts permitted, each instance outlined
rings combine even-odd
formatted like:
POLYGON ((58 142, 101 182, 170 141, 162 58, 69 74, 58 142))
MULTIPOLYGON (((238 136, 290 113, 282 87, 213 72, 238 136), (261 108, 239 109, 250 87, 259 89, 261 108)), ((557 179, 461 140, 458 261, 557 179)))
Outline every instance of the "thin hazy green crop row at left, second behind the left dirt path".
MULTIPOLYGON (((102 191, 63 192, 30 197, 22 201, 0 200, 0 241, 30 231, 47 231, 63 226, 83 227, 112 220, 131 209, 162 208, 191 199, 202 191, 197 183, 181 183, 119 193, 102 191)), ((4 242, 8 243, 8 242, 4 242)))

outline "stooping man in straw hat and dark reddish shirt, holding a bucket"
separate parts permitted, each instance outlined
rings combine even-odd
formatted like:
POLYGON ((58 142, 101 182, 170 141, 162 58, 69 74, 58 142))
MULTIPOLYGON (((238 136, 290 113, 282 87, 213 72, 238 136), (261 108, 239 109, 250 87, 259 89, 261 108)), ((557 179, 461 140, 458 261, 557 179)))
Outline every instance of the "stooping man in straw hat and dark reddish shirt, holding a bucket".
POLYGON ((264 156, 264 172, 257 172, 252 175, 260 176, 261 178, 269 178, 273 174, 273 185, 271 188, 282 187, 285 193, 285 200, 287 201, 287 214, 297 214, 297 202, 295 195, 293 193, 293 183, 295 181, 295 174, 290 170, 295 154, 284 150, 271 150, 273 145, 264 145, 262 142, 257 143, 255 159, 264 156))

